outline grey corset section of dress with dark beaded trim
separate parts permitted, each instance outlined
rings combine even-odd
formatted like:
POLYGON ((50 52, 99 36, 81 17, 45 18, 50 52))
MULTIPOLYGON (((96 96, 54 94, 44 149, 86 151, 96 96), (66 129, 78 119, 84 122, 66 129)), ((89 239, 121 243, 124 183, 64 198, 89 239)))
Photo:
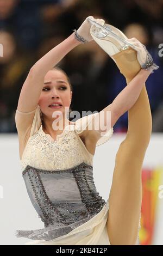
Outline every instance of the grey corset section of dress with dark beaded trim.
POLYGON ((50 240, 65 235, 98 214, 106 203, 96 190, 92 166, 84 162, 64 170, 42 170, 28 165, 23 178, 45 229, 20 230, 19 237, 50 240))

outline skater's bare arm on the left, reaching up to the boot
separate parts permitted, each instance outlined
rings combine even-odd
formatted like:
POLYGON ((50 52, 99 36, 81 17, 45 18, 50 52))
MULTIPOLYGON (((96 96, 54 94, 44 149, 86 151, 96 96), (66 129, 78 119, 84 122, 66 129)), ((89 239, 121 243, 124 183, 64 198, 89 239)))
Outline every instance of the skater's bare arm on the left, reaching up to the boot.
MULTIPOLYGON (((92 19, 94 18, 92 17, 92 19)), ((97 19, 97 21, 101 20, 97 19)), ((92 40, 90 27, 91 23, 86 19, 77 31, 87 42, 92 40)), ((18 111, 30 112, 36 109, 46 73, 79 44, 81 42, 76 39, 75 33, 72 33, 32 66, 20 93, 18 111)))

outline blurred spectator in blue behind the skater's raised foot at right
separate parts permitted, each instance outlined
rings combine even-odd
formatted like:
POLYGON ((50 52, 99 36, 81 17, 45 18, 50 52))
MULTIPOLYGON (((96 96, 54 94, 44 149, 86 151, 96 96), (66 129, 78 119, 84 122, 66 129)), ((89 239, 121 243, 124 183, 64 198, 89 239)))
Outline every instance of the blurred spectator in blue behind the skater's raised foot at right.
MULTIPOLYGON (((146 82, 146 89, 149 96, 149 102, 151 104, 151 111, 152 114, 156 111, 156 108, 159 106, 160 102, 163 99, 163 87, 162 87, 162 80, 163 80, 163 70, 162 70, 162 63, 161 59, 158 56, 158 48, 152 44, 152 40, 149 41, 149 33, 146 27, 143 27, 139 23, 132 23, 127 25, 124 28, 124 33, 127 35, 128 38, 137 38, 142 44, 145 44, 148 48, 148 51, 152 54, 154 62, 160 66, 160 69, 155 71, 147 80, 146 82)), ((120 71, 115 67, 115 70, 112 72, 112 99, 116 97, 118 93, 126 85, 126 80, 120 74, 120 71)), ((108 92, 110 96, 110 91, 108 92)), ((125 113, 119 120, 118 123, 115 125, 115 131, 117 132, 126 132, 128 127, 128 115, 125 113)))

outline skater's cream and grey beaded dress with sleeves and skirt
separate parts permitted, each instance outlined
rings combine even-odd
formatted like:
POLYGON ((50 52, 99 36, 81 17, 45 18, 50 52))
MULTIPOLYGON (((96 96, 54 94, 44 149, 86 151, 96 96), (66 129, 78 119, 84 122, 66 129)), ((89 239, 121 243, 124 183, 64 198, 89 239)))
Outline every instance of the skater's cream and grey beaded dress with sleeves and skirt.
MULTIPOLYGON (((20 160, 29 198, 44 228, 16 230, 17 237, 35 241, 26 245, 110 245, 106 230, 109 203, 99 195, 93 181, 93 155, 79 136, 96 114, 67 125, 54 140, 41 125, 40 108, 35 112, 30 137, 20 160)), ((97 131, 98 132, 98 131, 97 131)), ((96 146, 108 141, 111 128, 96 146)))

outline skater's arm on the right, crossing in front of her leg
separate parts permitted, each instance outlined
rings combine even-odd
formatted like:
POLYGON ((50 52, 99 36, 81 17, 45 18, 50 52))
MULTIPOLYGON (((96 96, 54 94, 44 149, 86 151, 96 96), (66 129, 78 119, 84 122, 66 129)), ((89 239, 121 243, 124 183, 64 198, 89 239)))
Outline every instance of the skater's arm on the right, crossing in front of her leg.
POLYGON ((143 86, 145 86, 148 76, 153 72, 153 70, 159 68, 155 63, 153 63, 153 59, 144 45, 135 38, 129 39, 129 41, 132 42, 137 49, 137 60, 139 61, 142 69, 133 78, 133 80, 128 83, 122 92, 117 95, 115 100, 99 112, 99 115, 96 115, 94 129, 99 132, 105 133, 110 130, 116 121, 135 104, 143 86))

